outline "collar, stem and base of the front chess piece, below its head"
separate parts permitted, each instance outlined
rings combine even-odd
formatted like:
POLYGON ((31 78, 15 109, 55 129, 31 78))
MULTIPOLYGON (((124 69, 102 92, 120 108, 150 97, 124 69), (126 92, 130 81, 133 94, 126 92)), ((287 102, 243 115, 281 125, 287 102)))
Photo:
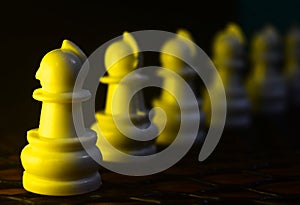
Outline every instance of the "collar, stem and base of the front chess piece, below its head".
MULTIPOLYGON (((29 144, 21 153, 24 188, 53 196, 77 195, 98 189, 101 185, 99 165, 93 159, 101 159, 95 145, 97 135, 92 130, 85 130, 82 136, 76 136, 75 129, 70 129, 73 126, 72 93, 52 94, 38 89, 33 97, 43 101, 43 107, 40 128, 27 132, 29 144)), ((79 93, 75 99, 78 106, 88 97, 89 92, 79 93)))

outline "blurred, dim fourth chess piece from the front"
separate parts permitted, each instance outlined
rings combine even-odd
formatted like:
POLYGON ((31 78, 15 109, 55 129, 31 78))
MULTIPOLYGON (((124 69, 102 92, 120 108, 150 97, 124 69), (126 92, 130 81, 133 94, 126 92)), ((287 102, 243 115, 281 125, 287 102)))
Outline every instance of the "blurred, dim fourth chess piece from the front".
MULTIPOLYGON (((223 81, 227 101, 225 129, 244 129, 251 124, 250 102, 242 77, 245 69, 244 44, 245 38, 241 29, 233 23, 219 32, 213 43, 212 60, 223 81)), ((216 79, 212 82, 212 90, 216 96, 223 85, 216 79)), ((210 99, 207 93, 204 110, 208 116, 207 124, 218 126, 210 124, 210 99)))

